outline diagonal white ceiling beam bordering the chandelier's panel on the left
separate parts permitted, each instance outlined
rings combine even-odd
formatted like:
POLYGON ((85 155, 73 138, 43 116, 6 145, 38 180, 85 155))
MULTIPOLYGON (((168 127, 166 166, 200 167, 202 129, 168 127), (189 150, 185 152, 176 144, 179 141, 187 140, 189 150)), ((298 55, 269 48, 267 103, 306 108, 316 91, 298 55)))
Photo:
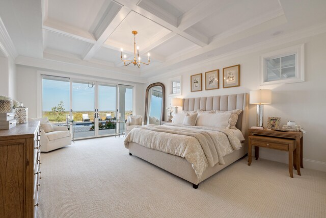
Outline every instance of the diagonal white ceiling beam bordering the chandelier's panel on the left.
POLYGON ((106 13, 106 16, 101 23, 101 26, 105 25, 106 28, 99 27, 104 29, 101 34, 98 34, 98 40, 91 46, 91 48, 83 55, 84 60, 90 60, 94 57, 97 50, 104 44, 106 39, 116 30, 120 23, 126 18, 130 13, 130 9, 122 8, 118 4, 114 4, 113 7, 110 7, 110 10, 106 13), (105 23, 105 24, 104 24, 105 23))

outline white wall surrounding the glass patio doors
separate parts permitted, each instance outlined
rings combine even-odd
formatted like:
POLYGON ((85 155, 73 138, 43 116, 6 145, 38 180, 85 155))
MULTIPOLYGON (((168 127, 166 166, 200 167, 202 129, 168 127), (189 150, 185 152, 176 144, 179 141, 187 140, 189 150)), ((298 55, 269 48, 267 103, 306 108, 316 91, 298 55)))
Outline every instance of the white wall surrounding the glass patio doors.
MULTIPOLYGON (((64 74, 66 77, 71 78, 78 78, 78 77, 88 77, 91 80, 96 80, 89 75, 76 75, 76 74, 69 74, 69 72, 55 72, 52 70, 45 70, 45 69, 38 69, 35 67, 28 67, 28 66, 17 66, 17 101, 24 103, 25 107, 29 108, 29 117, 38 117, 40 114, 37 114, 37 107, 38 101, 37 96, 41 92, 41 87, 37 87, 37 80, 39 79, 38 70, 42 70, 43 72, 49 72, 51 75, 56 74, 64 74)), ((135 96, 135 114, 144 114, 144 84, 141 83, 130 83, 123 81, 113 81, 112 79, 105 79, 101 78, 101 81, 106 81, 111 83, 119 83, 119 84, 131 84, 134 86, 134 96, 135 96)), ((40 109, 41 110, 41 109, 40 109)))

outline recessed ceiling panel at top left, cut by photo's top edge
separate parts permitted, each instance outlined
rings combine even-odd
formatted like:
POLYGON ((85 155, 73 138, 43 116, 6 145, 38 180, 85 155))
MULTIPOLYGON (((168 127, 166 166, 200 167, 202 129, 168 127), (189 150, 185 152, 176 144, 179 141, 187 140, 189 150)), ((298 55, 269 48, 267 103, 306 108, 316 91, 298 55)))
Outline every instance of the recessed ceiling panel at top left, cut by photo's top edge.
POLYGON ((110 0, 48 0, 48 19, 92 32, 110 0))

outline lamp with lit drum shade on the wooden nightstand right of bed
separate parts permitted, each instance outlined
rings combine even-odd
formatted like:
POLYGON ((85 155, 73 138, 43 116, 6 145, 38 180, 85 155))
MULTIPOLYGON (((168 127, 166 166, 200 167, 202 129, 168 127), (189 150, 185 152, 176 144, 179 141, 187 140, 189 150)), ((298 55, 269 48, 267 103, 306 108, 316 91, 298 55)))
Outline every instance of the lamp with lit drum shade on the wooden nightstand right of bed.
POLYGON ((257 127, 263 127, 263 106, 264 104, 271 104, 271 90, 251 90, 249 94, 249 103, 257 105, 257 127))

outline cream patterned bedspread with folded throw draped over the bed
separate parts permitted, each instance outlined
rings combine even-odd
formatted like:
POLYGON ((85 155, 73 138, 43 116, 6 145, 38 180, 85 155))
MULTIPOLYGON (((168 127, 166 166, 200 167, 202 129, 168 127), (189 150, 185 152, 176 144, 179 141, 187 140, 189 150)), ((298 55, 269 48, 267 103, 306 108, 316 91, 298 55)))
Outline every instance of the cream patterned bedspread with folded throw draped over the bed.
POLYGON ((223 156, 241 147, 232 131, 213 127, 180 125, 147 125, 130 131, 125 139, 144 147, 185 158, 201 177, 207 166, 224 164, 223 156))

